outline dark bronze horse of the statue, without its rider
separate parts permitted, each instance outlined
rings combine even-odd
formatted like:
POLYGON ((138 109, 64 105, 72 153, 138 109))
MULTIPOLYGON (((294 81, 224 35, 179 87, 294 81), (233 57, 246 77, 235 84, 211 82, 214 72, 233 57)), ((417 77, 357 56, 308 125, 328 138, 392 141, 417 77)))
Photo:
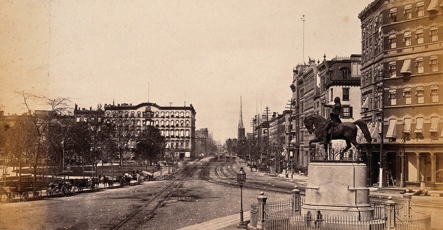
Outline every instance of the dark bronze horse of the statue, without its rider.
MULTIPOLYGON (((315 138, 309 141, 309 150, 312 151, 311 144, 321 141, 323 129, 326 125, 326 119, 320 115, 313 114, 305 118, 303 123, 305 124, 305 127, 308 129, 309 134, 315 134, 315 138)), ((346 152, 351 147, 351 143, 357 149, 356 159, 358 160, 360 158, 360 145, 356 141, 357 126, 361 129, 361 132, 363 132, 363 136, 366 139, 366 141, 368 143, 371 143, 373 139, 371 137, 371 133, 367 129, 366 122, 364 122, 361 119, 358 119, 354 122, 343 122, 340 123, 337 128, 335 126, 333 127, 331 133, 331 139, 333 140, 342 139, 346 141, 346 147, 340 151, 340 160, 343 160, 344 152, 346 152)), ((327 160, 326 152, 328 152, 328 144, 324 144, 324 147, 325 147, 325 156, 323 157, 323 160, 327 160)))

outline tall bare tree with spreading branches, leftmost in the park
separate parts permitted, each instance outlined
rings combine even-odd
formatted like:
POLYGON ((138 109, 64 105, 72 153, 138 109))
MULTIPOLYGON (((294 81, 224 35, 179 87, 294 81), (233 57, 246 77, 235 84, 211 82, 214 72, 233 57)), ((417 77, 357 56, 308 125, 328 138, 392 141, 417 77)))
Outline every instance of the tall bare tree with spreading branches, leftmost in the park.
MULTIPOLYGON (((34 152, 34 159, 32 165, 34 168, 34 175, 37 175, 38 162, 41 160, 43 144, 46 140, 45 134, 47 132, 47 127, 49 120, 57 114, 65 114, 68 111, 69 103, 71 102, 68 98, 55 98, 50 99, 45 96, 35 95, 27 93, 24 91, 17 92, 23 98, 23 105, 26 109, 27 115, 32 122, 35 132, 36 132, 36 148, 34 152), (50 110, 39 111, 32 107, 32 103, 37 103, 36 106, 49 106, 50 110)), ((47 149, 47 147, 46 147, 47 149)), ((34 178, 34 181, 37 178, 34 178)))

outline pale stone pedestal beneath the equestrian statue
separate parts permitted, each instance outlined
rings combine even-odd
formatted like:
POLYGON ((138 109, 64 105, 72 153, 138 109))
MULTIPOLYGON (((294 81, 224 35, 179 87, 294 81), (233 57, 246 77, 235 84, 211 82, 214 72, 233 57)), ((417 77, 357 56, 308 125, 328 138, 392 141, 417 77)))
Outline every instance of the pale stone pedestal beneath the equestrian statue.
POLYGON ((302 214, 370 218, 373 213, 366 187, 366 165, 360 161, 313 161, 302 214))

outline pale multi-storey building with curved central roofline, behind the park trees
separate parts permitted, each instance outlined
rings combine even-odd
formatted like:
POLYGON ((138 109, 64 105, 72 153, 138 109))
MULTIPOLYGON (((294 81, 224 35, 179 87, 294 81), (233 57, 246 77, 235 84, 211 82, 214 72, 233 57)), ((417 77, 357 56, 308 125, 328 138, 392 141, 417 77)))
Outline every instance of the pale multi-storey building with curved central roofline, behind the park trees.
POLYGON ((152 125, 159 128, 166 137, 167 151, 173 151, 179 158, 195 157, 195 109, 189 106, 159 106, 155 103, 105 104, 105 119, 125 116, 134 120, 137 126, 152 125))

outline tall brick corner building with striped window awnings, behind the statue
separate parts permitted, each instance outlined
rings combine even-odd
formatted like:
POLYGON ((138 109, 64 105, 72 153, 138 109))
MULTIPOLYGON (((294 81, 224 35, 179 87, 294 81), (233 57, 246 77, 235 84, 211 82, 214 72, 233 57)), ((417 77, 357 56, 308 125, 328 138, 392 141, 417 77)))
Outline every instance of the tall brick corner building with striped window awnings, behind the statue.
POLYGON ((361 116, 373 185, 443 187, 443 17, 436 0, 377 0, 361 20, 361 116), (438 61, 440 59, 440 61, 438 61), (376 129, 376 131, 374 131, 376 129), (382 147, 380 147, 382 145, 382 147))

